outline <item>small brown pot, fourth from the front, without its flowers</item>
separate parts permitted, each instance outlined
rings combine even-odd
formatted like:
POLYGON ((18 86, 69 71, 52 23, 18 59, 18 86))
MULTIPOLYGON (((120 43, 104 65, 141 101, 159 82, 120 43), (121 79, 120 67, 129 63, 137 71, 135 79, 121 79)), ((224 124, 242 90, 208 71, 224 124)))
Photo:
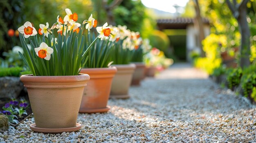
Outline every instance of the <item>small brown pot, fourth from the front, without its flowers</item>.
POLYGON ((136 65, 134 73, 132 75, 132 85, 139 86, 140 81, 145 77, 145 64, 143 62, 132 62, 136 65))

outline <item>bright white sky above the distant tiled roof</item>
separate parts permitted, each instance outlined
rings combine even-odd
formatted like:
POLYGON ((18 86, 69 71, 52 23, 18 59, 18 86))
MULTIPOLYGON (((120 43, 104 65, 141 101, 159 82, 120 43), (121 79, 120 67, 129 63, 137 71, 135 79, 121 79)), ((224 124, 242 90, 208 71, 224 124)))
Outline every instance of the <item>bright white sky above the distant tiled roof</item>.
POLYGON ((174 4, 177 4, 180 7, 185 7, 188 1, 189 0, 141 0, 146 7, 170 13, 176 12, 176 9, 173 7, 174 4))

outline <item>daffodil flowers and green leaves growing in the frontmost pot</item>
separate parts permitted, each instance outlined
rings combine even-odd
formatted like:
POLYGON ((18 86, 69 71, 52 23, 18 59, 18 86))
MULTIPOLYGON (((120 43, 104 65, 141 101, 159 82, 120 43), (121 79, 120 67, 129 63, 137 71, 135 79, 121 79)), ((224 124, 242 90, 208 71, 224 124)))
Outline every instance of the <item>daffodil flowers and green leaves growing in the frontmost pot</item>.
POLYGON ((76 13, 72 13, 70 9, 65 11, 67 15, 64 19, 58 16, 51 28, 48 23, 40 24, 38 33, 42 36, 37 36, 37 31, 30 22, 26 22, 18 29, 24 51, 23 54, 19 54, 34 76, 79 75, 81 68, 88 61, 90 48, 95 42, 100 44, 99 40, 108 39, 109 34, 105 33, 108 29, 99 27, 101 28, 101 32, 98 31, 100 37, 94 36, 94 39, 88 41, 84 35, 84 26, 89 24, 85 27, 88 30, 96 27, 97 20, 94 20, 91 15, 89 20, 84 20, 81 25, 76 22, 78 20, 76 13), (54 29, 58 30, 54 31, 54 29), (26 38, 29 39, 31 50, 27 47, 26 38))

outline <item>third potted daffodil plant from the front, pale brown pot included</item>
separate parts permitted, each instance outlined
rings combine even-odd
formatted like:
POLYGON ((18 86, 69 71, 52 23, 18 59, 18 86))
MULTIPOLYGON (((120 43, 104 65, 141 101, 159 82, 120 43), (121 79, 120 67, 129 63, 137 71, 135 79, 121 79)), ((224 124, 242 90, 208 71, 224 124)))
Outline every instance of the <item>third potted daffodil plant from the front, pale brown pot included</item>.
POLYGON ((118 28, 120 37, 117 39, 111 55, 112 66, 117 68, 117 73, 112 81, 110 97, 129 98, 128 90, 136 67, 135 64, 130 64, 135 47, 130 39, 130 30, 121 25, 118 25, 118 28))

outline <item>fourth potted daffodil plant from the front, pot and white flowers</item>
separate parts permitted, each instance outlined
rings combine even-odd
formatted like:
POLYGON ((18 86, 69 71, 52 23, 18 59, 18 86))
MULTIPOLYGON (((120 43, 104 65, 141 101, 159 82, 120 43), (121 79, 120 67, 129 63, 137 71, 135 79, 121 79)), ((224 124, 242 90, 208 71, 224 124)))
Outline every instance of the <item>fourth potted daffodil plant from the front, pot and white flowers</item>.
POLYGON ((134 34, 133 39, 136 46, 132 56, 132 63, 136 65, 136 68, 132 75, 132 85, 138 86, 140 85, 140 81, 145 77, 146 66, 143 62, 143 56, 151 49, 151 46, 148 39, 142 41, 138 32, 134 34))

